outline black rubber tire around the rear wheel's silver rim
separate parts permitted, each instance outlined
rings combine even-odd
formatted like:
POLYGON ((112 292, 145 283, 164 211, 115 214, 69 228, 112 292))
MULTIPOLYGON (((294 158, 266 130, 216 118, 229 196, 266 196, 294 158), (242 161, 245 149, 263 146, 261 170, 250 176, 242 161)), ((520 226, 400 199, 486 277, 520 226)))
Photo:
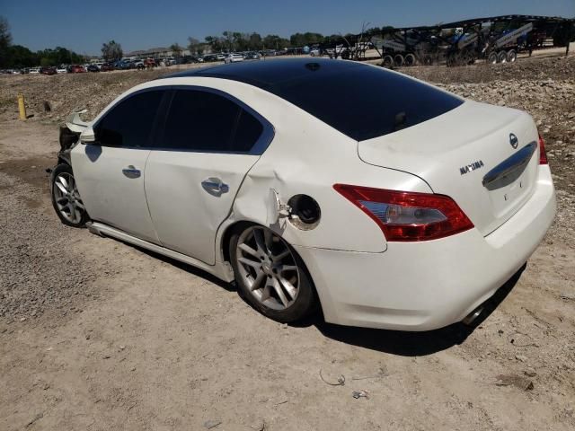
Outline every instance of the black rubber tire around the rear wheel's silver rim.
MULTIPOLYGON (((252 226, 247 225, 243 226, 241 229, 236 229, 234 233, 232 233, 229 242, 229 256, 232 268, 234 269, 235 284, 238 287, 240 295, 242 295, 243 298, 248 303, 250 303, 254 309, 274 321, 291 323, 304 319, 310 313, 314 312, 317 298, 315 295, 314 286, 312 284, 312 278, 310 277, 307 268, 305 268, 304 261, 297 255, 296 251, 288 244, 288 242, 286 242, 286 244, 288 244, 289 251, 291 251, 292 255, 296 259, 296 265, 299 274, 299 287, 296 301, 292 303, 286 310, 273 310, 265 306, 263 303, 260 303, 252 295, 249 287, 243 281, 243 277, 237 264, 236 248, 241 234, 250 227, 252 226)), ((283 241, 285 242, 285 240, 283 241)))

